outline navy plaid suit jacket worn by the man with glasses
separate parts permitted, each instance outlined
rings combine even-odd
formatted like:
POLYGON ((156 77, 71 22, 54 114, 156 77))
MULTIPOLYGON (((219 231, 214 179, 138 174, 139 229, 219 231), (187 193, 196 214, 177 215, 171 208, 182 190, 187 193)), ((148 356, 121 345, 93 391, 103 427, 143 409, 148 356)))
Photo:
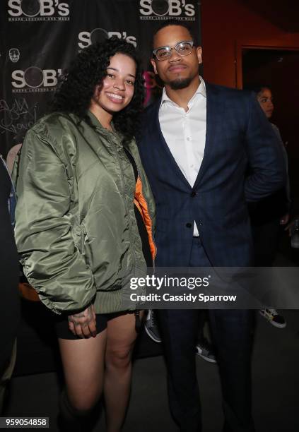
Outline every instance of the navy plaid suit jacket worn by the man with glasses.
POLYGON ((189 265, 194 220, 213 266, 252 265, 247 202, 286 178, 281 145, 255 95, 206 83, 206 98, 206 146, 193 188, 161 133, 160 100, 143 114, 138 145, 156 200, 158 266, 189 265))

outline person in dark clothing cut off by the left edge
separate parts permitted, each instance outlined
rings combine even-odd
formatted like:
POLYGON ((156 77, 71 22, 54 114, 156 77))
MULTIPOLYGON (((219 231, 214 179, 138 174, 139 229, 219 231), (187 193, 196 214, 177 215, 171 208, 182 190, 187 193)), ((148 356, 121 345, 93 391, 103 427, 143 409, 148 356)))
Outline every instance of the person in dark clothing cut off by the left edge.
POLYGON ((16 363, 16 334, 20 319, 18 252, 13 236, 15 196, 11 176, 0 155, 0 413, 4 393, 16 363))

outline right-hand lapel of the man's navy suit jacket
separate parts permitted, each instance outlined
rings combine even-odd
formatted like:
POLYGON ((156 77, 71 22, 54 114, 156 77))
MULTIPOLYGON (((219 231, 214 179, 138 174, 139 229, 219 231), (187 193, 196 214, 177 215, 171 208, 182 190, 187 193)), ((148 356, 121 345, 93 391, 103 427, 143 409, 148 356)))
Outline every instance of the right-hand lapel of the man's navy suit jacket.
POLYGON ((223 104, 218 97, 218 91, 214 85, 206 83, 206 144, 204 147, 204 158, 193 188, 199 185, 207 167, 213 163, 213 150, 216 145, 217 129, 221 127, 223 114, 223 104))

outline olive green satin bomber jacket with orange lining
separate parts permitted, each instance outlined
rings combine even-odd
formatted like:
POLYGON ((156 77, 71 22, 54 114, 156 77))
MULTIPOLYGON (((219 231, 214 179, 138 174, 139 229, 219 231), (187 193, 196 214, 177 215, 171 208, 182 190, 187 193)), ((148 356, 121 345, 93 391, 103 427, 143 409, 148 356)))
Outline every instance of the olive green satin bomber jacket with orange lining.
POLYGON ((134 201, 156 254, 153 196, 136 143, 128 149, 137 182, 119 136, 90 112, 88 119, 61 113, 40 119, 25 137, 15 174, 24 273, 56 313, 91 301, 96 313, 128 308, 130 277, 146 275, 134 201))

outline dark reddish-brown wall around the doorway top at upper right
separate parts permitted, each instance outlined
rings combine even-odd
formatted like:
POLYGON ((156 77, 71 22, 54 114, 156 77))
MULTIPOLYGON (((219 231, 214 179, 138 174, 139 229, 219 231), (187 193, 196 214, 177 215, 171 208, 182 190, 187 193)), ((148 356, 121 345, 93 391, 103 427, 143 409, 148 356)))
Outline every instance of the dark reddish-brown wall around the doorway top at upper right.
MULTIPOLYGON (((279 13, 293 16, 289 6, 280 4, 279 13)), ((204 49, 204 76, 211 83, 237 87, 236 47, 240 41, 264 46, 298 47, 299 30, 290 32, 271 23, 238 0, 201 1, 201 39, 204 49)), ((293 30, 293 28, 292 28, 293 30)))

